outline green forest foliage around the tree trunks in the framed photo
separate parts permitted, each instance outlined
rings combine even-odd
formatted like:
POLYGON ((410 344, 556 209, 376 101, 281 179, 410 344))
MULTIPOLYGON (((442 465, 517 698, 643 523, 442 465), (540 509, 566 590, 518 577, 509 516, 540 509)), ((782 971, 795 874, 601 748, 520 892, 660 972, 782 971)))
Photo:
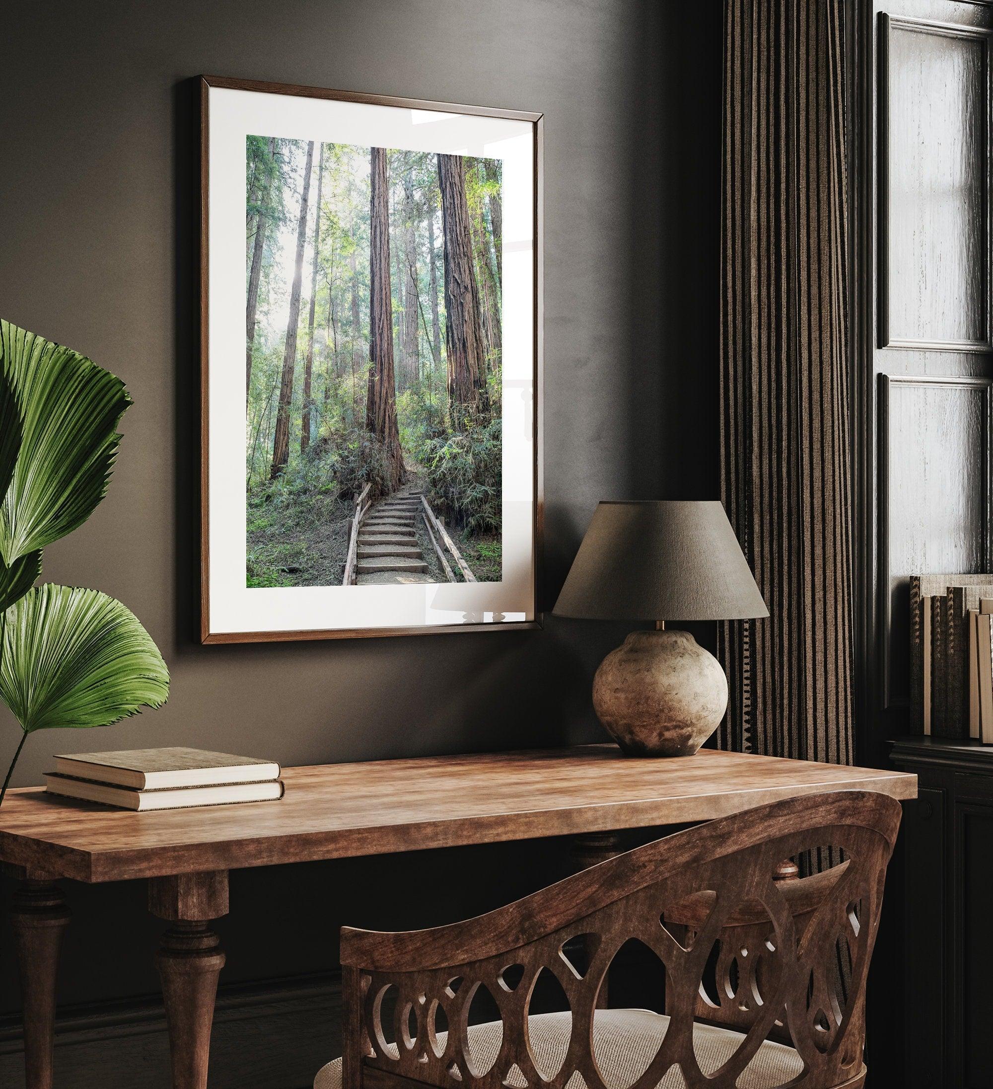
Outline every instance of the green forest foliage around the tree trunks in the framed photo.
MULTIPOLYGON (((306 248, 299 273, 290 455, 274 478, 273 437, 307 145, 249 136, 246 152, 249 321, 253 258, 260 246, 254 334, 249 328, 246 359, 248 580, 256 586, 295 585, 293 568, 308 535, 329 523, 350 518, 352 501, 365 484, 372 484, 373 493, 385 490, 383 451, 366 428, 370 366, 369 149, 315 145, 306 248), (312 363, 307 405, 304 386, 308 350, 312 363), (307 406, 309 435, 304 437, 307 406)), ((464 162, 486 344, 488 412, 453 413, 449 404, 438 157, 403 150, 391 150, 388 157, 395 405, 408 472, 422 485, 436 512, 461 531, 464 541, 477 535, 487 538, 479 542, 481 552, 478 548, 469 551, 475 551, 488 568, 486 577, 499 578, 500 163, 470 158, 464 162)), ((329 571, 328 577, 331 579, 333 573, 329 571)))

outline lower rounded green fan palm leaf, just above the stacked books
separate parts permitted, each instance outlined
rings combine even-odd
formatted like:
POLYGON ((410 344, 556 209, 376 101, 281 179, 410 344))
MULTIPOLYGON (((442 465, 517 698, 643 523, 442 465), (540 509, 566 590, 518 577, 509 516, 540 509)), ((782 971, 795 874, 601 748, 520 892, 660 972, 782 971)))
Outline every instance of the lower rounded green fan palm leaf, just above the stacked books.
POLYGON ((143 707, 161 707, 169 671, 120 601, 48 583, 4 614, 0 695, 25 734, 105 726, 143 707))

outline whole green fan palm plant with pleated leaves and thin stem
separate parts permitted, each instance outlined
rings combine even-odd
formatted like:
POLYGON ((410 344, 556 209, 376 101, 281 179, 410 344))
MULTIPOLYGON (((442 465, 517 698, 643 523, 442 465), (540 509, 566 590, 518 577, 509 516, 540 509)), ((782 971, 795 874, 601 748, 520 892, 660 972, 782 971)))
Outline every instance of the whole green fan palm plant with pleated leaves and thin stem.
POLYGON ((124 383, 73 352, 0 320, 0 697, 27 735, 105 726, 169 696, 151 637, 120 601, 32 588, 45 546, 107 493, 131 404, 124 383))

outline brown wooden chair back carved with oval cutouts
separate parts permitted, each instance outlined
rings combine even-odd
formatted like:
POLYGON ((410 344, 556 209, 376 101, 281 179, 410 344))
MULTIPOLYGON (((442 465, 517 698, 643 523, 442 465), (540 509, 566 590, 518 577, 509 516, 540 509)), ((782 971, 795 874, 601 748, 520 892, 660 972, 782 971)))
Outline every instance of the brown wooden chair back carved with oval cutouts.
POLYGON ((345 928, 343 1089, 505 1089, 522 1077, 529 1089, 617 1089, 598 1066, 593 1024, 629 939, 664 965, 670 1017, 629 1089, 653 1089, 674 1065, 686 1089, 733 1089, 777 1036, 802 1062, 789 1086, 861 1085, 866 975, 899 818, 899 804, 881 794, 790 798, 618 855, 478 919, 406 933, 345 928), (844 853, 844 865, 788 889, 773 880, 784 858, 825 846, 844 853), (568 958, 577 940, 589 956, 578 968, 568 958), (572 1015, 564 1061, 550 1076, 528 1032, 544 971, 572 1015), (481 988, 502 1021, 488 1063, 474 1055, 468 1031, 481 988), (700 1068, 699 1019, 744 1033, 719 1069, 700 1068))

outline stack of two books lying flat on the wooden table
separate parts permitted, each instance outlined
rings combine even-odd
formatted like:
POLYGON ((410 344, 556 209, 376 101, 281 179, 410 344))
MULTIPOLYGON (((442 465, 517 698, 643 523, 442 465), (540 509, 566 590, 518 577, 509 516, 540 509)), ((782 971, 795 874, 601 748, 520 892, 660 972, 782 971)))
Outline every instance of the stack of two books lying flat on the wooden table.
POLYGON ((272 760, 192 748, 72 752, 56 757, 45 776, 49 794, 102 802, 122 809, 184 809, 283 796, 272 760))

